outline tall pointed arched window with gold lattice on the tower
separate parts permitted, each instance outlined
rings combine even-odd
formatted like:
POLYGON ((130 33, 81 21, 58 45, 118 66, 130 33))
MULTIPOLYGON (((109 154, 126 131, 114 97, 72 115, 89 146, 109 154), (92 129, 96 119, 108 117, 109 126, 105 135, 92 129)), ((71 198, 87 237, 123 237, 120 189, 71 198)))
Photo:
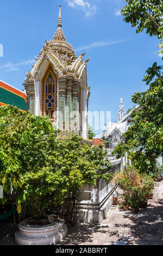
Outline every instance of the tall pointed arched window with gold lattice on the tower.
POLYGON ((50 119, 57 119, 57 75, 54 74, 51 65, 42 79, 42 115, 48 115, 50 119))

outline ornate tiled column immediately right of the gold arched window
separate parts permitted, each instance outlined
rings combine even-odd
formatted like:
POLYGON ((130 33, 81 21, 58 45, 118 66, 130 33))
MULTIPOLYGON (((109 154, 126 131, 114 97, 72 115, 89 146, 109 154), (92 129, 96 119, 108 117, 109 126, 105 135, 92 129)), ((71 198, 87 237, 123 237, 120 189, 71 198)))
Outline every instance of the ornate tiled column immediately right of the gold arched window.
POLYGON ((66 130, 65 109, 66 109, 67 78, 58 78, 58 128, 66 130))

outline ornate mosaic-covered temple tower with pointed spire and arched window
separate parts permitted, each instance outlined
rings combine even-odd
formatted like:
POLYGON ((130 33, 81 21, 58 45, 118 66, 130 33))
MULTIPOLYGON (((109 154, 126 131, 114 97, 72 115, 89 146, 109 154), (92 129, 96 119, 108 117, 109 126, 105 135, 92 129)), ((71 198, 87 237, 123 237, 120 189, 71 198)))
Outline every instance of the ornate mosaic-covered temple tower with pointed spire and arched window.
POLYGON ((86 63, 83 54, 76 56, 62 31, 61 5, 58 28, 53 39, 46 40, 35 57, 32 71, 27 72, 24 87, 27 110, 35 115, 49 115, 62 132, 77 132, 87 138, 87 108, 90 87, 87 87, 86 63))

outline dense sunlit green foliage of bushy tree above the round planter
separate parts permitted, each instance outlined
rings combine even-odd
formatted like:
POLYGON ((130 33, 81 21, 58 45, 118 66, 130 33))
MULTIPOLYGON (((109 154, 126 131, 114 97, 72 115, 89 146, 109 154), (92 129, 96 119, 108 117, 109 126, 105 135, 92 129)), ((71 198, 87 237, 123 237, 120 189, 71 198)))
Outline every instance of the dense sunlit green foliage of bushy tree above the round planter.
POLYGON ((96 170, 110 168, 107 151, 82 145, 82 137, 59 139, 48 117, 0 107, 0 185, 4 203, 10 191, 16 204, 26 202, 30 214, 41 215, 49 205, 62 204, 84 184, 94 185, 96 170), (7 125, 8 124, 8 125, 7 125))

